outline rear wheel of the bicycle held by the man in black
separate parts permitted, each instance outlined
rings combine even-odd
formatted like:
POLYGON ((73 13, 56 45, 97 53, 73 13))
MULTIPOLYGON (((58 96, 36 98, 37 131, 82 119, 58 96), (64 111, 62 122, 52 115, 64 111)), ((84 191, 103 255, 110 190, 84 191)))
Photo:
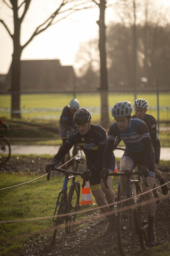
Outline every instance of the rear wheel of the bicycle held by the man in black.
POLYGON ((77 213, 80 210, 80 183, 79 181, 75 182, 74 185, 71 185, 68 201, 67 201, 67 211, 70 213, 69 215, 69 225, 65 229, 66 233, 69 234, 73 227, 75 219, 77 218, 77 213), (73 214, 74 213, 74 214, 73 214))

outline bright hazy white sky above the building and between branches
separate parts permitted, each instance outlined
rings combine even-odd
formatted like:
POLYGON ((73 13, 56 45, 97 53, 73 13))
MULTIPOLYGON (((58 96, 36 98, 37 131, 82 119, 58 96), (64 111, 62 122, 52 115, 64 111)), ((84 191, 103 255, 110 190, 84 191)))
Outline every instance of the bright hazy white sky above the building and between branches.
MULTIPOLYGON (((162 4, 166 3, 170 10, 170 0, 157 1, 162 4)), ((0 2, 2 5, 1 0, 0 2)), ((23 22, 21 44, 25 43, 36 26, 48 17, 50 7, 55 9, 54 4, 56 2, 56 0, 32 0, 23 22), (45 3, 43 6, 39 4, 42 1, 45 3), (49 6, 49 3, 53 4, 49 6)), ((8 26, 12 26, 11 13, 7 9, 4 12, 1 5, 0 18, 4 19, 8 26)), ((114 18, 114 7, 106 9, 106 25, 107 22, 114 18)), ((96 23, 98 19, 98 8, 77 12, 71 18, 56 23, 56 25, 36 36, 23 50, 21 59, 60 59, 61 65, 73 65, 76 67, 74 57, 80 42, 98 37, 98 25, 96 23)), ((12 29, 12 27, 10 28, 12 29)), ((12 60, 13 44, 11 37, 1 23, 0 37, 0 74, 6 74, 12 60)))

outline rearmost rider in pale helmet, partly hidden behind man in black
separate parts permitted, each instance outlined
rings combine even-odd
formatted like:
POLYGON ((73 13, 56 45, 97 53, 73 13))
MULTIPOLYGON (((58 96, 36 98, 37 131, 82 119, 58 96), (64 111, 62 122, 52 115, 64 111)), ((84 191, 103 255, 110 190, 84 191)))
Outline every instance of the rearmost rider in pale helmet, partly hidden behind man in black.
POLYGON ((79 108, 79 101, 77 99, 72 99, 69 105, 65 106, 62 111, 62 115, 60 117, 60 135, 63 144, 67 140, 69 133, 76 128, 73 122, 73 116, 79 108))

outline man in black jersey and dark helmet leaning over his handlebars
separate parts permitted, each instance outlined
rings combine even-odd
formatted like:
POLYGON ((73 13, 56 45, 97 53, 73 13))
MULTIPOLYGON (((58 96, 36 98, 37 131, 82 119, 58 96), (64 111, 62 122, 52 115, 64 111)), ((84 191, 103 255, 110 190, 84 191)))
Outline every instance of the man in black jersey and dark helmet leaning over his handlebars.
MULTIPOLYGON (((91 124, 91 114, 89 110, 85 108, 77 110, 74 114, 73 121, 77 126, 77 129, 70 134, 67 141, 54 156, 52 163, 46 166, 46 171, 49 172, 51 168, 54 169, 56 163, 67 154, 75 143, 77 143, 86 156, 87 170, 82 173, 83 180, 89 180, 91 193, 94 195, 97 204, 99 206, 106 206, 102 207, 101 211, 103 213, 106 213, 109 210, 113 211, 113 206, 111 209, 108 207, 108 204, 114 203, 115 198, 114 191, 111 188, 112 177, 110 176, 107 179, 108 189, 105 188, 104 182, 102 182, 101 185, 100 178, 100 171, 103 164, 103 153, 107 143, 106 131, 99 125, 91 124)), ((114 172, 114 168, 115 156, 112 152, 109 171, 114 172)), ((109 220, 108 231, 111 231, 114 227, 114 216, 115 214, 107 216, 109 220)))

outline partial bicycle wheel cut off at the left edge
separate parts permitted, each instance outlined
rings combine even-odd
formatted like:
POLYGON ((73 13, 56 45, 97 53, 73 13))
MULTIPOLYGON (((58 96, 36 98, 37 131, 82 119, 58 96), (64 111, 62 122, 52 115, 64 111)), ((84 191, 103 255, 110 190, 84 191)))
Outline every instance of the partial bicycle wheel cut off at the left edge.
POLYGON ((11 157, 10 141, 5 135, 0 136, 0 165, 6 163, 11 157))

